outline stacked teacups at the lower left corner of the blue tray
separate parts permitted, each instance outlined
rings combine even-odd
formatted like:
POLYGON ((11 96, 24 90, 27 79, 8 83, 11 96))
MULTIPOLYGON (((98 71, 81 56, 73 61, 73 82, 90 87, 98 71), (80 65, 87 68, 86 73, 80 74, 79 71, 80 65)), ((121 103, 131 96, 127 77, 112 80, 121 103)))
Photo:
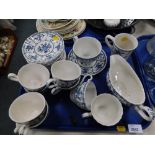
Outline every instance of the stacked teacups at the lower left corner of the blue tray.
POLYGON ((9 117, 20 128, 15 132, 21 132, 24 128, 39 123, 47 112, 47 102, 43 95, 37 92, 25 93, 16 98, 9 108, 9 117))

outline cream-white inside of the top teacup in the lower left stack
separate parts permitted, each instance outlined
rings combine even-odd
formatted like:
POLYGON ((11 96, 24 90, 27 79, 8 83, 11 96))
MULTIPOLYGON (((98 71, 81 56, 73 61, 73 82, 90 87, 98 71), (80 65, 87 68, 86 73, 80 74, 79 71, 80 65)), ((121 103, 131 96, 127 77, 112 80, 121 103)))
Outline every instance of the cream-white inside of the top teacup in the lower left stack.
POLYGON ((16 123, 27 123, 37 118, 46 106, 43 95, 37 92, 21 95, 11 104, 9 117, 16 123))

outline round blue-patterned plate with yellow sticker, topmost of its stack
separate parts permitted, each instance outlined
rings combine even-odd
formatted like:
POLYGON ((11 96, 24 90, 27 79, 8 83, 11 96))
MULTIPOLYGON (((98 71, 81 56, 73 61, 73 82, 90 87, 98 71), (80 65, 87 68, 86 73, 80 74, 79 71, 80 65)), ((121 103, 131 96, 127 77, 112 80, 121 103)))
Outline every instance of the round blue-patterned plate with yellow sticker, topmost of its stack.
POLYGON ((34 33, 25 40, 22 47, 23 56, 28 63, 43 65, 53 63, 63 51, 63 38, 54 31, 34 33))

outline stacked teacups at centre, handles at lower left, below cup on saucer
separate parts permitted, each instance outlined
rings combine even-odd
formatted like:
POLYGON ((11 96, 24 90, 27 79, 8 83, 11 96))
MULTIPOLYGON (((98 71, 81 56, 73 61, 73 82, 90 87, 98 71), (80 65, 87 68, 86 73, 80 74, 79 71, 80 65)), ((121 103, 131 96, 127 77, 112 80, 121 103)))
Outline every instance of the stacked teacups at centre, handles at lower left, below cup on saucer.
POLYGON ((51 66, 53 85, 50 85, 51 93, 54 95, 62 89, 72 89, 80 81, 81 68, 69 60, 60 60, 51 66))

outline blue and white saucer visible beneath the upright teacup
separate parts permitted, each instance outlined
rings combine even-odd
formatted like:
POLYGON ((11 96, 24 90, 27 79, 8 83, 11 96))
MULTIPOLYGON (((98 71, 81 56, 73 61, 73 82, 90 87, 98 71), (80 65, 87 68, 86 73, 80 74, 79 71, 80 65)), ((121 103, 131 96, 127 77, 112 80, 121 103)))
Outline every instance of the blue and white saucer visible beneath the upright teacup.
MULTIPOLYGON (((69 52, 68 59, 78 64, 76 55, 74 54, 73 50, 69 52)), ((96 75, 106 67, 106 64, 107 64, 107 56, 104 50, 102 50, 99 56, 97 57, 94 66, 92 67, 83 67, 80 65, 79 66, 81 67, 82 75, 96 75)))

